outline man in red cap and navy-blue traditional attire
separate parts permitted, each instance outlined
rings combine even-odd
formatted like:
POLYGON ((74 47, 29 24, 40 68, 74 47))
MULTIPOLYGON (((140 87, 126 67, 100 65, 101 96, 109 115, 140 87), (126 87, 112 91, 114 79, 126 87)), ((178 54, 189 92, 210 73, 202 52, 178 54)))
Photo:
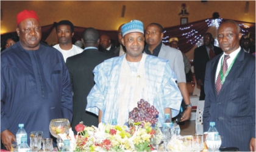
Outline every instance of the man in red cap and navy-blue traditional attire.
POLYGON ((33 10, 16 16, 20 42, 1 52, 1 141, 10 151, 18 124, 49 138, 52 119, 73 116, 72 88, 62 54, 40 43, 41 26, 33 10))

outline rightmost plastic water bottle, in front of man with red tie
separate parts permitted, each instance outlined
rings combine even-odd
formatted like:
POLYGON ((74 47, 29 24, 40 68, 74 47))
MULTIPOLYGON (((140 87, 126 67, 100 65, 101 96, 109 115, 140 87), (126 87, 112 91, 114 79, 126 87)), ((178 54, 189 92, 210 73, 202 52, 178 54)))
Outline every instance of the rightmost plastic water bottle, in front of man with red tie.
POLYGON ((215 127, 215 122, 210 122, 210 128, 205 143, 208 147, 208 151, 218 151, 221 146, 221 139, 219 139, 219 132, 215 127))

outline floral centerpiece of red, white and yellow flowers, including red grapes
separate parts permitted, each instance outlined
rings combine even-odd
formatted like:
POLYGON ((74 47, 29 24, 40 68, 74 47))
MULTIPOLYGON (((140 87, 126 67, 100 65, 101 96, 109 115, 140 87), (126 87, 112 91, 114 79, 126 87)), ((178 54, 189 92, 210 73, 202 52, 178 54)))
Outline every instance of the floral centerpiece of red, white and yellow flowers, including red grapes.
MULTIPOLYGON (((129 112, 129 126, 99 123, 85 126, 80 122, 76 127, 74 151, 151 151, 151 138, 157 127, 158 111, 148 102, 140 100, 138 107, 129 112), (134 117, 133 117, 134 116, 134 117), (152 127, 154 125, 154 127, 152 127)), ((161 131, 160 131, 161 132, 161 131)), ((158 134, 159 139, 162 134, 158 134)))

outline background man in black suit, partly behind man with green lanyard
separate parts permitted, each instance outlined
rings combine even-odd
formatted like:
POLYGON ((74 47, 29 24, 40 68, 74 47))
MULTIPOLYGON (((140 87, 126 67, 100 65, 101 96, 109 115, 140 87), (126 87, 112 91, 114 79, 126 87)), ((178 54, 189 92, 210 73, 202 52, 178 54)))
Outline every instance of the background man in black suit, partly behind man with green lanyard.
POLYGON ((221 54, 222 50, 219 47, 213 46, 212 34, 205 33, 204 45, 194 49, 194 74, 196 75, 196 84, 201 87, 199 100, 204 100, 204 76, 206 64, 216 55, 221 54))

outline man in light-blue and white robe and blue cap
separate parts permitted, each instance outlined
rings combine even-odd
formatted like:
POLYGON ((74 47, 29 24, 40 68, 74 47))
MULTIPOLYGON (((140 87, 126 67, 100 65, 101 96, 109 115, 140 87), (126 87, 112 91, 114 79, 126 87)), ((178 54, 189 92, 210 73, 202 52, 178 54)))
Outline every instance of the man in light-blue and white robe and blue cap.
POLYGON ((117 119, 124 125, 129 112, 141 98, 159 111, 158 123, 165 113, 179 113, 182 95, 169 61, 143 54, 143 23, 133 20, 122 26, 122 43, 126 54, 105 60, 94 69, 95 85, 87 97, 87 111, 99 115, 99 122, 117 119))

